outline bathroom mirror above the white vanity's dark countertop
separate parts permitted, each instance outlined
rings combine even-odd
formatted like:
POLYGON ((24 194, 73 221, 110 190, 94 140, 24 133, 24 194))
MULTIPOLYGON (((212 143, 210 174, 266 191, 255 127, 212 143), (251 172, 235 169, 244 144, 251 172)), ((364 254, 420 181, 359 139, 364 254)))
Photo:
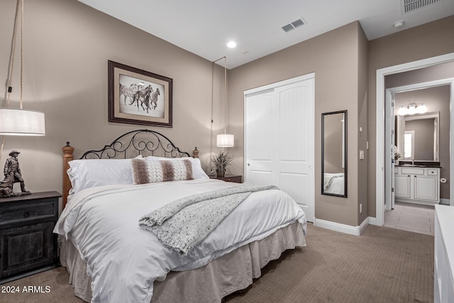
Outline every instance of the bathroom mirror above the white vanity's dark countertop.
POLYGON ((439 161, 438 112, 397 116, 397 151, 400 160, 439 161))

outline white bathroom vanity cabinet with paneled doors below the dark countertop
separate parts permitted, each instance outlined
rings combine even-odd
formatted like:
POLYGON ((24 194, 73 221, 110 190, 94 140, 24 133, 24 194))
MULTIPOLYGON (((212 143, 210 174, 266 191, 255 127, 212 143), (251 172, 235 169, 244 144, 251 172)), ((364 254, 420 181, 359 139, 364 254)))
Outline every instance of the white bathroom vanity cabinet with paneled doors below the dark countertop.
POLYGON ((440 202, 440 168, 395 167, 394 197, 397 202, 433 205, 440 202))

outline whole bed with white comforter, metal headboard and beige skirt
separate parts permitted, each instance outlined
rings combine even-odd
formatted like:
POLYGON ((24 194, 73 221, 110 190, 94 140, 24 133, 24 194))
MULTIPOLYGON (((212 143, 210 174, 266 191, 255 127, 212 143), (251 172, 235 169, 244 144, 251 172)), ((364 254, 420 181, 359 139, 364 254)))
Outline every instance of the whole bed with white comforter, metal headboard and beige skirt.
POLYGON ((160 133, 131 131, 79 160, 73 150, 63 148, 54 232, 86 302, 221 302, 284 250, 306 246, 306 216, 288 194, 210 179, 160 133))

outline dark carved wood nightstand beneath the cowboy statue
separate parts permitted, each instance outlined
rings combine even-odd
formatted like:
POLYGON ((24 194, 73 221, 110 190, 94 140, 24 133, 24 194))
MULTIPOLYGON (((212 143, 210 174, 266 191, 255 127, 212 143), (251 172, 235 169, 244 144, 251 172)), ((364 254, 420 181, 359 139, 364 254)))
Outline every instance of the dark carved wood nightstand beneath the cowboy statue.
POLYGON ((0 284, 58 266, 59 192, 0 199, 0 284))

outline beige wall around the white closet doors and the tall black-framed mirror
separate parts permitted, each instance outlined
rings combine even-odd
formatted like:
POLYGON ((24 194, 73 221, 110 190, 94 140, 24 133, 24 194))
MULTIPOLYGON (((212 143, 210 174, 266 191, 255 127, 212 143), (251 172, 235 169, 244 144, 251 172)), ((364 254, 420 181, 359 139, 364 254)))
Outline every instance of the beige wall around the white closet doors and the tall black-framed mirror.
MULTIPOLYGON (((317 219, 358 226, 358 22, 262 57, 230 72, 230 129, 237 172, 243 173, 243 92, 255 87, 315 72, 315 216, 317 219), (348 197, 321 194, 321 113, 348 110, 348 197)), ((362 58, 362 56, 361 56, 362 58)))

